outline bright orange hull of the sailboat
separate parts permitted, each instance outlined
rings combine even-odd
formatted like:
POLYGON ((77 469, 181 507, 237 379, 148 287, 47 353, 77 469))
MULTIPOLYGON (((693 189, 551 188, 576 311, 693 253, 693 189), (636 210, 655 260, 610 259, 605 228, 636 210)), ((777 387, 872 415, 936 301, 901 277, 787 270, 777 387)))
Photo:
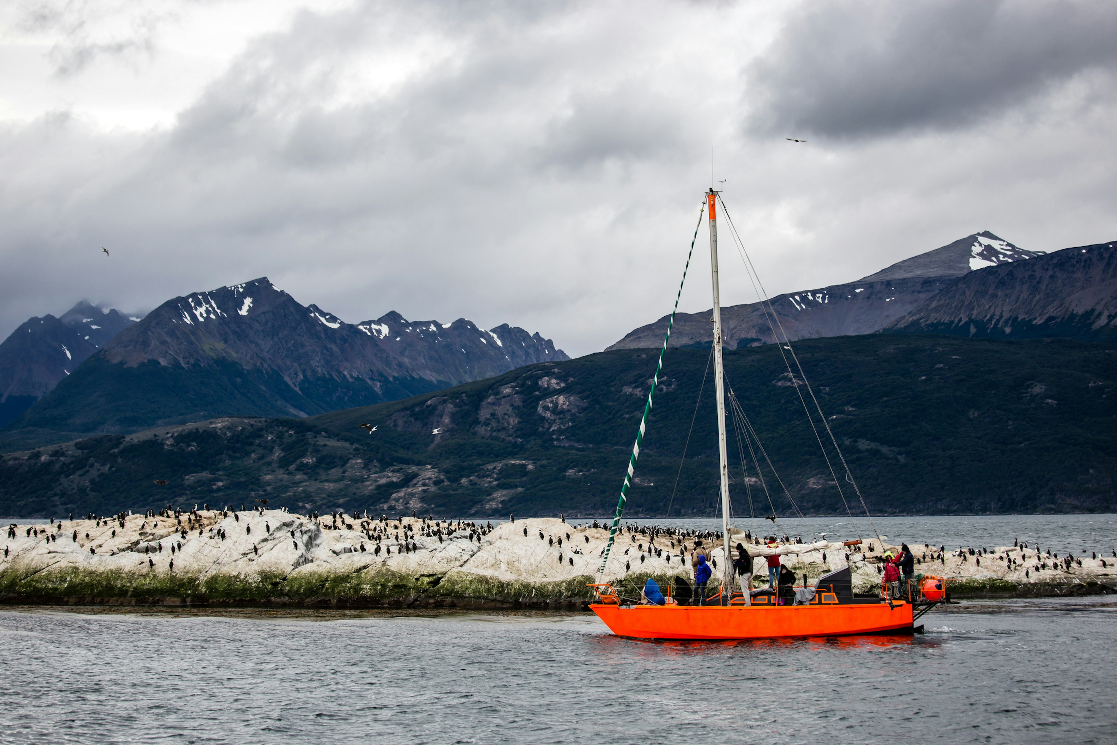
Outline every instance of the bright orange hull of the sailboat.
POLYGON ((910 633, 910 603, 853 605, 590 605, 610 631, 634 639, 779 639, 910 633))

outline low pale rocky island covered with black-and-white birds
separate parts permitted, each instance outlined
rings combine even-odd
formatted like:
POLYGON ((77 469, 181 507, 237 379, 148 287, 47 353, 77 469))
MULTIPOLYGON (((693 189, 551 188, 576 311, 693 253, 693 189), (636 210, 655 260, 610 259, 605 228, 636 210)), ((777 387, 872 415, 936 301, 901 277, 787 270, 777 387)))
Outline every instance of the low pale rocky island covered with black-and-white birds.
MULTIPOLYGON (((598 524, 531 518, 493 525, 423 517, 298 515, 285 509, 193 509, 89 515, 11 524, 0 557, 0 600, 9 604, 277 605, 337 608, 577 609, 593 596, 609 533, 598 524)), ((705 538, 720 564, 719 538, 627 526, 604 579, 638 588, 648 576, 690 576, 705 538)), ((880 585, 895 548, 781 541, 754 556, 782 554, 814 581, 849 565, 855 591, 880 585)), ((916 572, 948 580, 955 596, 1068 595, 1117 589, 1117 557, 1062 556, 1032 546, 946 551, 908 542, 916 572)), ((756 583, 764 581, 757 558, 756 583)), ((765 577, 766 579, 766 577, 765 577)))

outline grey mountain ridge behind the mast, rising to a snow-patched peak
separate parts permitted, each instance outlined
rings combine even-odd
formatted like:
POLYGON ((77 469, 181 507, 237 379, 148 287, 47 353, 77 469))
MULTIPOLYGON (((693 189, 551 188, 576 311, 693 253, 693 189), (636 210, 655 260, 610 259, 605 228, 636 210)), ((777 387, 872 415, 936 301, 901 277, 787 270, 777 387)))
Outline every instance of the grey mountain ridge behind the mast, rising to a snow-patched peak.
MULTIPOLYGON (((819 336, 870 334, 918 307, 966 273, 982 267, 1040 256, 1002 240, 989 231, 974 233, 859 279, 821 289, 777 295, 770 319, 760 303, 722 308, 725 345, 741 348, 772 343, 783 333, 791 340, 819 336), (776 334, 773 334, 775 326, 776 334), (780 326, 783 331, 780 331, 780 326)), ((671 332, 672 346, 709 344, 712 311, 679 314, 671 332)), ((667 331, 668 316, 641 326, 609 350, 658 346, 667 331)), ((608 351, 608 350, 607 350, 608 351)))

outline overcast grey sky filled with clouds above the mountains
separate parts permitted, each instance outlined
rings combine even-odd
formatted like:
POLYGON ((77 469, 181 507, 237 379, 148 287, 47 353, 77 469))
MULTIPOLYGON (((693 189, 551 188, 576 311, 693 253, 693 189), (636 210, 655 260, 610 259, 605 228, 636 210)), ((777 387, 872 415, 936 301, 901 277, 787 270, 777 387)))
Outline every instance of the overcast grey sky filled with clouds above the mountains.
POLYGON ((670 312, 712 170, 773 294, 1109 241, 1114 39, 1096 0, 13 0, 0 338, 268 276, 586 354, 670 312))

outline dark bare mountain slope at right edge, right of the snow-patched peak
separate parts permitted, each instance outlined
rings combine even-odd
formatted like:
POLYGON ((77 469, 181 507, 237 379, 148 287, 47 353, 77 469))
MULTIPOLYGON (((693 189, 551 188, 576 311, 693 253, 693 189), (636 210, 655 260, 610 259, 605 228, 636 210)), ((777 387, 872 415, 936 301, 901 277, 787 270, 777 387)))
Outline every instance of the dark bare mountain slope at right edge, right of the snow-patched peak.
POLYGON ((1079 246, 958 279, 889 331, 1117 338, 1117 243, 1079 246))

